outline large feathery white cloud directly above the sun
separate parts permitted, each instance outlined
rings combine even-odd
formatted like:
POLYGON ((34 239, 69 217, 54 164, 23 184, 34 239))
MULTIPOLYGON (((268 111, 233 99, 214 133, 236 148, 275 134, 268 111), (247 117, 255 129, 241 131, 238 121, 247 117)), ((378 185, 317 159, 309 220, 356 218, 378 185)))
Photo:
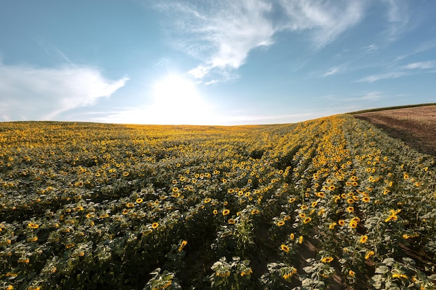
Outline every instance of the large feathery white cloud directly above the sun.
POLYGON ((272 5, 262 0, 207 1, 194 6, 173 1, 158 7, 173 17, 171 29, 177 46, 202 63, 189 74, 197 79, 228 72, 244 64, 249 51, 273 43, 274 27, 268 13, 272 5))

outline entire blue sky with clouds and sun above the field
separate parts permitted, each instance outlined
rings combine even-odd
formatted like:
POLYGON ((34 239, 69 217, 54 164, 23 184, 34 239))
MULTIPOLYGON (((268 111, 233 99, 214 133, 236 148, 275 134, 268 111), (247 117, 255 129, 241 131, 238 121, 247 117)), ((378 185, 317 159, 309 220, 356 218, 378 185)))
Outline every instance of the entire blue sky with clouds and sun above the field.
POLYGON ((0 121, 289 123, 436 102, 433 0, 0 1, 0 121))

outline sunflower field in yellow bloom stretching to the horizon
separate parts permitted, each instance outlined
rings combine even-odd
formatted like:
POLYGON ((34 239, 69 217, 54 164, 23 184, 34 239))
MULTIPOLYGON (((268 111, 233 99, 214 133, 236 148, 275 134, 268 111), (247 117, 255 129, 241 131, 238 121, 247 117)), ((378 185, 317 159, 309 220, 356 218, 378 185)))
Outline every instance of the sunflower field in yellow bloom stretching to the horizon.
POLYGON ((436 289, 435 157, 352 115, 0 123, 0 289, 436 289))

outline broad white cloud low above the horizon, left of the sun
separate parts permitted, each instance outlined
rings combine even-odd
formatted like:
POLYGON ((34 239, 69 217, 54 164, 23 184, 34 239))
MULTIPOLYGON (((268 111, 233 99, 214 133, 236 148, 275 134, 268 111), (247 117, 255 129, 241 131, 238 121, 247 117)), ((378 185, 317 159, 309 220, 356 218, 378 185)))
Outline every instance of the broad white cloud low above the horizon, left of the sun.
POLYGON ((0 63, 0 120, 53 120, 95 104, 122 88, 128 77, 104 79, 93 67, 33 68, 0 63))

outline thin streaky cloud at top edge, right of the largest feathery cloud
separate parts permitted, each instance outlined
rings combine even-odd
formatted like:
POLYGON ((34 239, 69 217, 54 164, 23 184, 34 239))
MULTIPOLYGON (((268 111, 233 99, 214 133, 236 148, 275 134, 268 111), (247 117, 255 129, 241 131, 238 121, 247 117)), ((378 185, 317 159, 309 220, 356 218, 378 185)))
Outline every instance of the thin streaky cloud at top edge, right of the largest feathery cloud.
POLYGON ((313 31, 317 49, 357 24, 364 17, 365 10, 365 2, 361 0, 281 0, 280 3, 288 15, 283 28, 313 31))

